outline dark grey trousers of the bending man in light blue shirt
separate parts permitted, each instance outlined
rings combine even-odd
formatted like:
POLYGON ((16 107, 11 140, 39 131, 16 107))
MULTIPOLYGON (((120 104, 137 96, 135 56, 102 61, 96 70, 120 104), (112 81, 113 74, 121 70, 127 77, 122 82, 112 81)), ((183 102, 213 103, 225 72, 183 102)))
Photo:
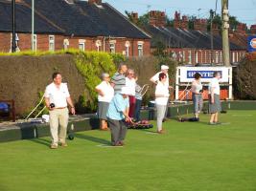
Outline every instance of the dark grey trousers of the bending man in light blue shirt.
POLYGON ((113 120, 107 118, 109 128, 111 131, 111 143, 112 145, 118 144, 120 141, 124 141, 127 135, 128 127, 124 120, 113 120))

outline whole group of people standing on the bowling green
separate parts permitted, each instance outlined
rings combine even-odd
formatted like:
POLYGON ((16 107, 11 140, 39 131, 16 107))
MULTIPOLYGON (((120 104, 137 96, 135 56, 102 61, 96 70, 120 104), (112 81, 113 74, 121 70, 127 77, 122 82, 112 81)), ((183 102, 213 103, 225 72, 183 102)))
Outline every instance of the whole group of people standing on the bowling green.
MULTIPOLYGON (((155 84, 155 108, 157 119, 157 133, 163 134, 163 121, 167 117, 167 105, 170 96, 169 67, 161 66, 161 71, 151 77, 155 84)), ((45 104, 49 109, 50 132, 52 143, 50 148, 57 149, 58 143, 67 146, 66 131, 68 124, 68 106, 71 114, 75 115, 75 107, 70 97, 67 85, 61 82, 61 74, 53 74, 53 82, 46 87, 45 104), (59 130, 58 130, 59 126, 59 130)), ((195 74, 191 91, 195 106, 195 117, 202 109, 202 85, 201 75, 195 74)), ((218 112, 221 111, 220 102, 220 73, 215 73, 209 84, 209 112, 211 118, 209 124, 218 124, 218 112)), ((134 70, 128 69, 126 64, 121 64, 111 78, 109 74, 102 74, 102 82, 96 86, 98 93, 98 117, 100 118, 101 130, 111 132, 111 143, 113 146, 123 146, 128 127, 126 122, 140 120, 140 108, 142 103, 142 88, 137 83, 137 75, 134 70)))

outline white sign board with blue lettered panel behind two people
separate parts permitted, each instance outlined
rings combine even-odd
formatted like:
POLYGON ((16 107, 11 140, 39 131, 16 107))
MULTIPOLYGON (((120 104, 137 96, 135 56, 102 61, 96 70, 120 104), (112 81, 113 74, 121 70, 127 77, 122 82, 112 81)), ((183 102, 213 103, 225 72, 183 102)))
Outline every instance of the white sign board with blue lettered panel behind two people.
POLYGON ((228 82, 231 67, 178 67, 178 70, 180 82, 192 82, 196 73, 201 74, 201 82, 210 82, 215 72, 221 73, 220 82, 228 82))

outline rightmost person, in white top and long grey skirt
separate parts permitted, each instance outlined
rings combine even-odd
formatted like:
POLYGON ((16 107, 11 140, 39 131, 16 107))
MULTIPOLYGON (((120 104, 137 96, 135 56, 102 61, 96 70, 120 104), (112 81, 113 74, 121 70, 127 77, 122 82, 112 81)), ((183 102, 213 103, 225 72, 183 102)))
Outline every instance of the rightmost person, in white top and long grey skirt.
POLYGON ((220 101, 220 84, 221 74, 219 72, 214 72, 213 78, 209 84, 209 113, 210 125, 220 124, 218 113, 221 112, 221 101, 220 101))

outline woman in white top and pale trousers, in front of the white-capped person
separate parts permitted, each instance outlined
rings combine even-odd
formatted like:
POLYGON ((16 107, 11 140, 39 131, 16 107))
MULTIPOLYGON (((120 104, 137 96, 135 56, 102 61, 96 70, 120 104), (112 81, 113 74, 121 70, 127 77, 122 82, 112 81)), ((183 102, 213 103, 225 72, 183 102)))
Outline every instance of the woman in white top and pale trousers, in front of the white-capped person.
POLYGON ((155 88, 155 106, 157 113, 157 133, 164 133, 162 123, 165 117, 165 112, 167 109, 169 94, 169 87, 166 83, 167 75, 164 73, 159 74, 159 81, 155 88))

